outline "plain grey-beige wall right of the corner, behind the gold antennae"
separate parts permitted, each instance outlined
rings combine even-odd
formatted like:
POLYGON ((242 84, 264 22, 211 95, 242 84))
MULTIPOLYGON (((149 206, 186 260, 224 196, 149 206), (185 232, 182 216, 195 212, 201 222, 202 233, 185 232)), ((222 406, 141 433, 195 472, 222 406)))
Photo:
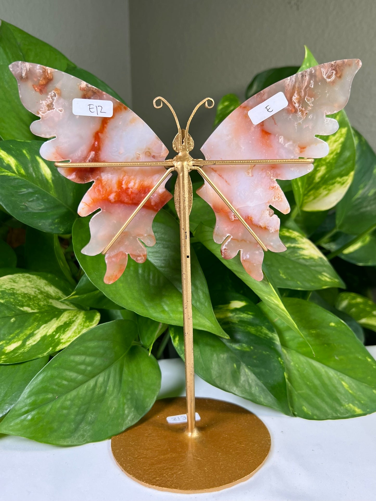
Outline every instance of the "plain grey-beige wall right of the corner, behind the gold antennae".
MULTIPOLYGON (((376 149, 375 26, 374 0, 130 0, 133 109, 171 149, 172 117, 155 96, 185 123, 202 98, 243 98, 256 73, 300 65, 306 44, 321 63, 362 60, 346 112, 376 149)), ((197 147, 213 118, 202 110, 192 122, 197 147)))

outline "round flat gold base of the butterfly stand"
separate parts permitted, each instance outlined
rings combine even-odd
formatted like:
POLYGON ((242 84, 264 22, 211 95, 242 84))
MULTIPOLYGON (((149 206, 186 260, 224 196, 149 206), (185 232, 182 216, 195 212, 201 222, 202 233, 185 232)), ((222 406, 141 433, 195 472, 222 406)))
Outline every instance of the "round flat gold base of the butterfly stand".
POLYGON ((134 426, 112 437, 111 448, 122 470, 134 480, 171 492, 210 492, 252 476, 270 451, 270 434, 243 407, 196 398, 197 433, 167 416, 186 413, 183 397, 157 400, 134 426))

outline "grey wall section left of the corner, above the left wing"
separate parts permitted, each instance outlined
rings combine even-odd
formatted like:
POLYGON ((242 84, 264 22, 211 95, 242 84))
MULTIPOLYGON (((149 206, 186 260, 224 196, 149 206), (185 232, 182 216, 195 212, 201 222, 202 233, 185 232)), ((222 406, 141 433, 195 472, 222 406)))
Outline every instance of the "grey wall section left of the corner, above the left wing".
POLYGON ((0 0, 0 19, 56 47, 131 102, 128 0, 0 0))

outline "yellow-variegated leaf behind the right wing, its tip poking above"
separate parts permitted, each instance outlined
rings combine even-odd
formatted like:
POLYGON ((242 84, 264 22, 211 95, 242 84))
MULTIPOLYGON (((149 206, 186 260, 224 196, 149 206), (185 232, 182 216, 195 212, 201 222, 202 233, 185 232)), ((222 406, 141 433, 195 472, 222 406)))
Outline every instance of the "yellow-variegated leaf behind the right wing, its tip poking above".
MULTIPOLYGON (((318 64, 309 49, 304 47, 305 57, 299 71, 318 64)), ((311 172, 291 181, 296 204, 305 211, 334 207, 346 193, 354 175, 355 142, 350 123, 343 110, 330 117, 338 122, 337 132, 317 136, 329 145, 329 153, 315 159, 311 172)))

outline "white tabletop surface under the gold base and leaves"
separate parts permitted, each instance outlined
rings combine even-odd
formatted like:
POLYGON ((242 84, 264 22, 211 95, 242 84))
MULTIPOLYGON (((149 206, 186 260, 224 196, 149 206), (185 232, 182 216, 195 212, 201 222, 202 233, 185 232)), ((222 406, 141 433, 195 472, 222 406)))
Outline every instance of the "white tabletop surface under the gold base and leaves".
MULTIPOLYGON (((369 351, 376 355, 376 347, 369 351)), ((182 361, 162 360, 160 366, 161 396, 183 395, 182 361)), ((288 417, 219 390, 197 376, 196 395, 246 407, 268 427, 271 452, 249 480, 219 492, 161 492, 138 484, 120 470, 110 440, 57 447, 0 435, 0 497, 7 501, 376 499, 376 413, 337 421, 288 417)))

